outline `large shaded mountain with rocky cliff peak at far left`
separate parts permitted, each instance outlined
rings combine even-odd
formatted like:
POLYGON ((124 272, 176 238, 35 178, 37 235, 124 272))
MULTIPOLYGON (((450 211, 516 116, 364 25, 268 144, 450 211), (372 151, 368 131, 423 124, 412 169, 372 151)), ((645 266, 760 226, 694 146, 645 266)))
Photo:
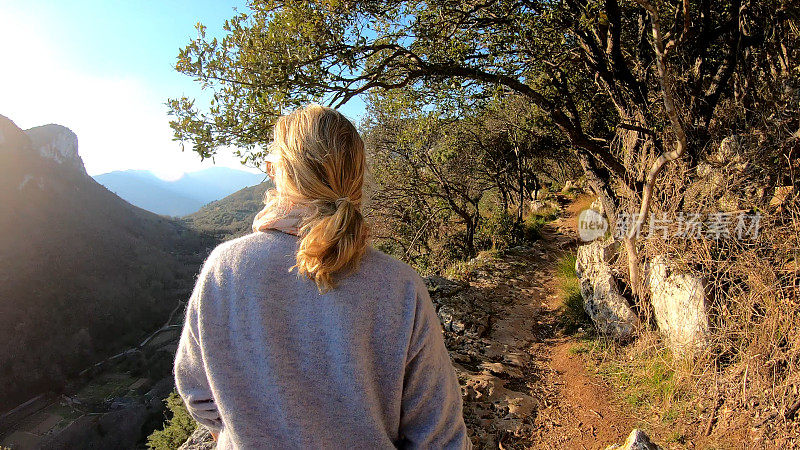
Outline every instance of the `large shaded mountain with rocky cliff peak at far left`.
POLYGON ((0 116, 0 413, 158 328, 210 245, 88 176, 69 129, 0 116))

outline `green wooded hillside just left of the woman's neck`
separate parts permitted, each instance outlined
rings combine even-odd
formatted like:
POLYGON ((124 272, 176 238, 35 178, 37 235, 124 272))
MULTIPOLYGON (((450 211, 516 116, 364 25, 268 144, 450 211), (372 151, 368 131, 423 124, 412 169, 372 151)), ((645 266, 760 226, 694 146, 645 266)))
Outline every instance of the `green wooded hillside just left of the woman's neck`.
POLYGON ((264 207, 264 193, 273 187, 271 181, 246 187, 182 220, 190 228, 214 235, 219 241, 245 235, 250 232, 256 213, 264 207))

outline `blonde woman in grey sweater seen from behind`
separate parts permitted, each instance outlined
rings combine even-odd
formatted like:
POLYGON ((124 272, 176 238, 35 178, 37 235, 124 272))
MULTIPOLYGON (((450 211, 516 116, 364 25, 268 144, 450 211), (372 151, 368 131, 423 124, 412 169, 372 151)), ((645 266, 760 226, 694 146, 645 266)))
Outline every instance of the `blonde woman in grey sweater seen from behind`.
POLYGON ((268 159, 254 232, 214 249, 187 306, 191 415, 218 448, 470 448, 425 284, 367 245, 353 124, 309 105, 278 120, 268 159))

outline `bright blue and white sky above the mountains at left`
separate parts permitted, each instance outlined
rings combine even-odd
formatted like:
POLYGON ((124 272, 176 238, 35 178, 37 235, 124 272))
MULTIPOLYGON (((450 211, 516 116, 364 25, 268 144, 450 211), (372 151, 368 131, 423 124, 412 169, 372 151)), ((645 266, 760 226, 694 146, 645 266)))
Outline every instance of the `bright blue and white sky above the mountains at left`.
MULTIPOLYGON (((231 149, 200 162, 172 140, 168 98, 202 96, 174 70, 196 37, 221 37, 245 1, 0 0, 0 114, 22 129, 70 128, 90 175, 151 170, 164 179, 218 166, 245 169, 231 149)), ((363 103, 342 108, 360 120, 363 103)), ((253 169, 250 169, 251 171, 253 169)))

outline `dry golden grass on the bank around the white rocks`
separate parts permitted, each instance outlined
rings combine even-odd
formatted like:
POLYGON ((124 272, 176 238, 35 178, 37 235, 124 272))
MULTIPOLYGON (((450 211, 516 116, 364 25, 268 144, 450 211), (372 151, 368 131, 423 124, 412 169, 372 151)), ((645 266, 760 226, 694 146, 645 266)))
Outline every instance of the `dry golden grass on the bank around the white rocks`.
MULTIPOLYGON (((712 421, 710 433, 716 427, 742 426, 782 442, 782 437, 800 431, 798 413, 793 411, 800 398, 800 201, 795 189, 794 197, 780 208, 771 207, 774 187, 765 189, 760 172, 752 168, 755 163, 737 166, 735 162, 712 166, 707 177, 689 176, 692 172, 683 163, 670 166, 659 180, 652 213, 673 218, 679 213, 698 213, 708 219, 715 212, 730 212, 733 232, 737 213, 758 212, 756 237, 675 237, 673 225, 666 239, 650 236, 645 228, 637 245, 642 261, 666 255, 672 270, 697 276, 706 287, 708 346, 693 359, 663 361, 674 374, 670 383, 675 392, 695 398, 706 413, 734 411, 730 423, 712 421)), ((629 199, 621 210, 632 211, 635 205, 629 199)), ((619 258, 620 273, 626 273, 624 263, 625 258, 619 258)), ((640 299, 646 320, 637 349, 632 353, 610 350, 602 356, 611 361, 606 362, 608 367, 621 369, 618 373, 647 368, 647 355, 653 351, 638 346, 654 345, 655 354, 663 349, 651 337, 655 325, 647 300, 640 299), (630 357, 635 367, 624 361, 630 357)), ((660 390, 656 385, 651 388, 653 394, 660 390)), ((647 403, 664 410, 670 408, 669 402, 667 396, 647 403)))

